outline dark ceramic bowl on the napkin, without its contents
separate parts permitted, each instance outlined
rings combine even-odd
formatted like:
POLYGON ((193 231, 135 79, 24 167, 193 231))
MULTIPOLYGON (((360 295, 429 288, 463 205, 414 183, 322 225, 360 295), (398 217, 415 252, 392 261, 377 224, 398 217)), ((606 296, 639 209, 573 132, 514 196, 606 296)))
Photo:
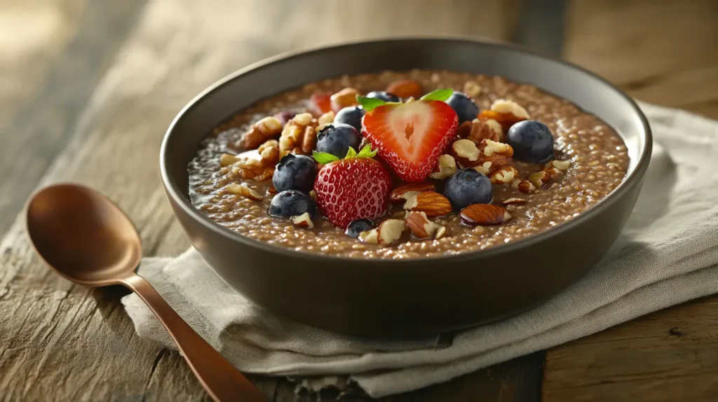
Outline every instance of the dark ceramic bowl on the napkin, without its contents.
POLYGON ((573 65, 471 39, 389 39, 273 57, 195 97, 162 143, 162 181, 177 218, 216 274, 251 302, 315 327, 361 335, 455 330, 546 300, 581 278, 620 234, 651 156, 638 106, 573 65), (307 82, 383 70, 447 69, 536 85, 612 125, 625 140, 625 181, 572 221, 485 251, 421 259, 350 259, 294 252, 236 234, 190 203, 187 163, 218 123, 307 82))

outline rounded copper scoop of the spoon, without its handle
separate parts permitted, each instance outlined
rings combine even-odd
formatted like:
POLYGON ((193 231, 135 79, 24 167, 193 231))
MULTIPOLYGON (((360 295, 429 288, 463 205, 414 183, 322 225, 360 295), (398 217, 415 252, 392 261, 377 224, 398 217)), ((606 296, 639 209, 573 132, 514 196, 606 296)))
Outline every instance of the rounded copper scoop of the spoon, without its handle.
POLYGON ((73 282, 118 284, 139 266, 141 240, 130 220, 91 188, 57 184, 27 206, 27 232, 37 253, 73 282))

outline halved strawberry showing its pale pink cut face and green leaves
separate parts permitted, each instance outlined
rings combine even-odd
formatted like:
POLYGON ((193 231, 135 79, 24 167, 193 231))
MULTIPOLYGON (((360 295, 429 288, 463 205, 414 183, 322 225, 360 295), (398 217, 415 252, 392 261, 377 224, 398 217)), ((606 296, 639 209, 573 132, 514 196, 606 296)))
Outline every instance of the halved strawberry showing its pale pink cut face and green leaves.
POLYGON ((362 134, 396 176, 407 183, 424 181, 456 136, 459 119, 446 100, 452 90, 436 90, 399 103, 359 97, 365 110, 362 134))

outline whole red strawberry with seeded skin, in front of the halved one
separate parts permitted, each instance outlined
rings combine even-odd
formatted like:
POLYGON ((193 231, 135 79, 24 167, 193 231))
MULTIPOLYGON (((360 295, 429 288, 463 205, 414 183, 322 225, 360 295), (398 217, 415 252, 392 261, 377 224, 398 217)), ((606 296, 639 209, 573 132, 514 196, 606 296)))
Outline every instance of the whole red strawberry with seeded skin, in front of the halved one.
POLYGON ((314 180, 314 193, 322 214, 342 229, 355 219, 373 219, 386 213, 391 175, 376 151, 366 145, 359 153, 349 148, 345 158, 314 151, 314 159, 326 163, 314 180))

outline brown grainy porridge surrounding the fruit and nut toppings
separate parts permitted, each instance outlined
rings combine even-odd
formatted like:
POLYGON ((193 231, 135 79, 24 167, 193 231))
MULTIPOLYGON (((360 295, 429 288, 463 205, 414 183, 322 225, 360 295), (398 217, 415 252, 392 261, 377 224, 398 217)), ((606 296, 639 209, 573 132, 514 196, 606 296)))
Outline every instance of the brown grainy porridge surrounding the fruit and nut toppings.
MULTIPOLYGON (((412 258, 494 247, 573 219, 623 181, 628 161, 625 144, 615 130, 595 116, 582 112, 572 103, 536 87, 510 82, 498 76, 413 70, 314 82, 258 102, 219 125, 214 133, 208 135, 188 168, 192 203, 218 224, 240 234, 304 252, 360 258, 412 258), (267 214, 271 200, 267 189, 271 185, 271 178, 266 181, 243 181, 227 174, 227 169, 220 166, 220 155, 242 151, 235 143, 252 123, 274 113, 307 111, 309 96, 314 92, 337 92, 345 87, 354 87, 366 93, 384 90, 392 82, 406 79, 420 82, 425 92, 445 87, 463 90, 466 82, 477 82, 481 92, 474 100, 480 110, 488 109, 497 99, 517 102, 526 108, 532 120, 548 125, 554 135, 556 155, 559 159, 570 161, 569 168, 564 176, 549 181, 546 186, 536 188, 530 194, 521 193, 509 185, 494 186, 493 204, 500 205, 501 201, 512 197, 526 200, 526 204, 505 206, 512 217, 502 224, 466 226, 457 214, 452 213, 432 219, 446 226, 447 234, 441 239, 418 240, 411 238, 409 231, 406 231, 397 244, 384 246, 350 238, 325 218, 315 219, 313 229, 300 229, 292 221, 275 219, 267 214), (225 186, 232 182, 246 183, 264 199, 252 201, 228 193, 225 186)), ((514 166, 525 178, 541 170, 543 165, 514 161, 514 166)), ((440 183, 437 188, 440 192, 440 183)), ((401 204, 391 204, 383 219, 391 218, 401 211, 401 204)), ((375 221, 378 223, 381 220, 375 221)))

